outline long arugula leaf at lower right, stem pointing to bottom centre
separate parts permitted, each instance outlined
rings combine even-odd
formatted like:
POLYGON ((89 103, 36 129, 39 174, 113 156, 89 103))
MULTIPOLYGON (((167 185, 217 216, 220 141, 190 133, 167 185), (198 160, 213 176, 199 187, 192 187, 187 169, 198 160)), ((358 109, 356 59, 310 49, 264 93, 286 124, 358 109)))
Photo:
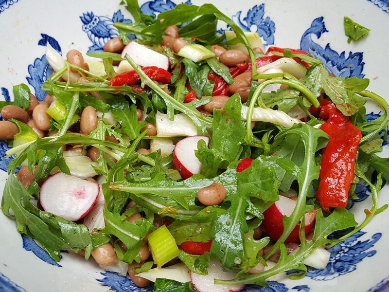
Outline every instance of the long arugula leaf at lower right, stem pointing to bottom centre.
POLYGON ((346 209, 335 209, 328 217, 324 217, 321 209, 316 213, 316 227, 314 237, 311 241, 302 242, 300 248, 292 255, 287 256, 286 247, 281 246, 281 257, 278 263, 271 269, 259 274, 239 274, 233 280, 216 279, 216 284, 256 284, 265 286, 265 280, 273 275, 289 270, 301 270, 306 272, 303 260, 316 248, 330 243, 332 240, 327 237, 335 231, 354 227, 354 215, 346 209))

